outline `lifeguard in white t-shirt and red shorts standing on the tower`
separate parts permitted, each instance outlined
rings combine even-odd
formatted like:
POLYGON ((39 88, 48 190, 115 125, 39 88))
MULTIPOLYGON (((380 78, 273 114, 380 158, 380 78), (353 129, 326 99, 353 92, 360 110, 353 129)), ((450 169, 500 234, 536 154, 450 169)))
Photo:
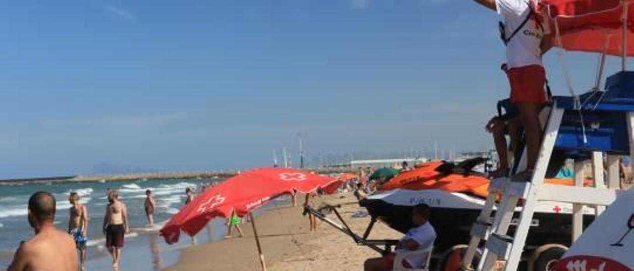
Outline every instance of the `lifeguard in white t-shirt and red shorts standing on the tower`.
POLYGON ((552 44, 547 25, 534 11, 533 1, 524 0, 475 0, 497 11, 504 17, 500 22, 500 37, 506 46, 507 77, 510 83, 510 101, 517 104, 520 120, 526 136, 527 165, 524 172, 513 180, 529 182, 537 162, 541 144, 539 108, 547 102, 543 91, 546 72, 541 61, 552 44))

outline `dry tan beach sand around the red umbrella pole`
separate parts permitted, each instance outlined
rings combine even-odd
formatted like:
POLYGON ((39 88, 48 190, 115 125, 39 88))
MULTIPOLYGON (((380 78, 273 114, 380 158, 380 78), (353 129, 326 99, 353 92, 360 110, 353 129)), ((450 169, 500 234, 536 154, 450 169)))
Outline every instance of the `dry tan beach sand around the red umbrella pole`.
MULTIPOLYGON (((298 197, 303 199, 302 196, 298 197)), ((302 200, 299 200, 301 203, 302 200)), ((317 206, 341 204, 340 214, 351 229, 362 235, 370 217, 353 218, 359 207, 351 194, 316 198, 317 206)), ((300 204, 301 205, 301 204, 300 204)), ((334 214, 328 218, 336 220, 334 214)), ((351 237, 318 220, 316 232, 309 232, 308 218, 301 206, 280 206, 256 217, 257 232, 268 270, 363 270, 366 258, 380 256, 351 237)), ((179 262, 166 270, 261 270, 251 224, 243 224, 243 238, 231 238, 183 249, 179 262)), ((237 232, 234 232, 234 236, 237 232)), ((371 239, 399 239, 400 232, 377 222, 371 239)), ((188 238, 181 236, 181 238, 188 238)))

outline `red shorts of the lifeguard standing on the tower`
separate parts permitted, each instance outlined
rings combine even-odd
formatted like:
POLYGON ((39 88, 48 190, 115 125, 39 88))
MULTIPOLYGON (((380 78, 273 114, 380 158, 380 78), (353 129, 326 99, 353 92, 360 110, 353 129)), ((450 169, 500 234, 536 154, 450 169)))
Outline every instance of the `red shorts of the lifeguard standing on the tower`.
POLYGON ((507 71, 511 85, 511 103, 545 103, 546 72, 540 65, 511 68, 507 71))

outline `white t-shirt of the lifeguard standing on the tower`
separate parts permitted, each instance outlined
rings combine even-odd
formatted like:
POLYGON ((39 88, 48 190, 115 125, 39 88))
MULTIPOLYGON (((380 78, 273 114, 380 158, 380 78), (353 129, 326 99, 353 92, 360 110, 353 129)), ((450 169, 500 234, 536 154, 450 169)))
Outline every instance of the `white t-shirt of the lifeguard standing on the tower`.
MULTIPOLYGON (((530 13, 527 1, 530 0, 495 0, 498 13, 504 17, 506 38, 519 27, 530 13)), ((508 68, 541 64, 541 39, 548 33, 547 24, 538 23, 533 19, 528 22, 510 39, 507 44, 508 68)))

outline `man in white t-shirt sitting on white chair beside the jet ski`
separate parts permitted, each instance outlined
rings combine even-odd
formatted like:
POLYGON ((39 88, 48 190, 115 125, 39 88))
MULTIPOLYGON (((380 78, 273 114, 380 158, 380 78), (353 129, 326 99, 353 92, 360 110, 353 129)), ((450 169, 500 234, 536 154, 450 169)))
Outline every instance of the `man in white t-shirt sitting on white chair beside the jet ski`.
MULTIPOLYGON (((411 212, 411 222, 415 225, 396 244, 396 253, 403 251, 417 251, 429 249, 436 240, 436 230, 429 223, 430 210, 426 204, 413 207, 411 212)), ((425 265, 422 255, 408 256, 403 260, 403 267, 420 268, 425 265)), ((394 266, 394 253, 389 253, 380 258, 370 258, 365 261, 363 268, 365 271, 389 271, 394 266)))

